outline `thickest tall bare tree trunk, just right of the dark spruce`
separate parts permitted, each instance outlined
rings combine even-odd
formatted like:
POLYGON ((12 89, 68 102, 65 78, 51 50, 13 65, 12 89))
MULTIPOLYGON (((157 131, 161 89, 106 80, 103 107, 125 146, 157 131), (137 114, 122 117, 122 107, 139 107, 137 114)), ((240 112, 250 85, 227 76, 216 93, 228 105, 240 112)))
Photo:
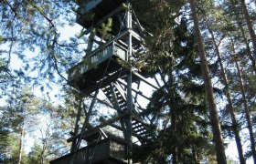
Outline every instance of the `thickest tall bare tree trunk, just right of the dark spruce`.
POLYGON ((196 4, 195 4, 195 0, 188 0, 188 2, 191 7, 192 17, 194 21, 194 30, 195 30, 195 36, 197 39, 198 53, 201 60, 202 76, 204 78, 204 84, 205 84, 205 89, 206 89, 206 94, 208 99, 209 116, 211 120, 213 138, 215 142, 215 151, 217 155, 217 161, 219 164, 226 164, 227 160, 225 155, 225 148, 224 148, 224 143, 221 136, 219 116, 218 116, 218 111, 215 104, 213 87, 212 87, 211 79, 209 75, 208 60, 207 60, 207 56, 204 49, 205 46, 203 44, 202 36, 199 29, 199 21, 197 17, 196 4))

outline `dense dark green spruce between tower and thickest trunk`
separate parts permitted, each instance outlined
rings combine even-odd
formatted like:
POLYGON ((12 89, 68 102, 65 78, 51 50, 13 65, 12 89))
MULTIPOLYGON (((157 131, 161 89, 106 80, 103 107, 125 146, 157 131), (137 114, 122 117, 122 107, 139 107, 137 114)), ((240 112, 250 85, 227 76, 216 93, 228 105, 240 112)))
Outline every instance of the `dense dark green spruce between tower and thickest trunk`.
POLYGON ((187 26, 187 19, 182 18, 173 29, 158 27, 159 33, 168 30, 168 35, 151 38, 154 44, 149 45, 150 69, 164 81, 146 112, 153 116, 152 123, 162 122, 152 154, 159 157, 156 162, 175 156, 176 161, 168 162, 197 163, 214 154, 197 48, 187 26))

